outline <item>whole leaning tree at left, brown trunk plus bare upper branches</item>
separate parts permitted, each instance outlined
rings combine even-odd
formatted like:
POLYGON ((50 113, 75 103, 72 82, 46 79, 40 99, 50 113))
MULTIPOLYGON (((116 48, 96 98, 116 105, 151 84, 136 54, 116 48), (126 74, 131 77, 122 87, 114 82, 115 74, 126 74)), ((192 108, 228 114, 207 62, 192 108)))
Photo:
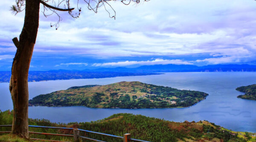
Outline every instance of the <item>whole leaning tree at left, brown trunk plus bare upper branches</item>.
MULTIPOLYGON (((16 4, 11 7, 14 14, 25 10, 25 19, 23 29, 20 33, 20 38, 13 38, 12 41, 17 47, 15 58, 12 63, 12 76, 10 79, 9 89, 12 95, 13 102, 13 122, 12 133, 20 137, 29 138, 28 127, 28 73, 29 65, 32 58, 32 53, 38 33, 39 26, 39 8, 40 4, 44 6, 42 13, 45 17, 52 14, 58 16, 57 22, 51 27, 56 30, 61 21, 58 12, 67 11, 71 17, 78 18, 80 16, 80 3, 86 3, 87 8, 95 13, 98 8, 104 7, 111 18, 116 17, 116 12, 112 8, 110 2, 116 0, 74 0, 77 7, 77 12, 73 13, 75 8, 70 6, 70 0, 16 0, 16 4), (111 12, 112 11, 112 12, 111 12), (113 15, 111 15, 113 13, 113 15)), ((140 0, 118 0, 119 2, 129 5, 131 3, 140 3, 140 0)), ((143 0, 148 1, 148 0, 143 0)))

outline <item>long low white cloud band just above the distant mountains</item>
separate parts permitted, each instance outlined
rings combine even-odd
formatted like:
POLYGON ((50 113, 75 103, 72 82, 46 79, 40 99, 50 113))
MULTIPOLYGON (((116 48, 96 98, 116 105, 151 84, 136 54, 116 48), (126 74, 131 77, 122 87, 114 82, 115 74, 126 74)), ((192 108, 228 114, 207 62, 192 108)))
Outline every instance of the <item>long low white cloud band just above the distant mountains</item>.
POLYGON ((152 61, 119 61, 119 62, 110 62, 110 63, 95 63, 92 66, 102 67, 102 66, 129 66, 134 64, 140 65, 154 65, 154 64, 192 64, 188 61, 182 61, 179 59, 174 60, 164 60, 164 59, 155 59, 152 61))

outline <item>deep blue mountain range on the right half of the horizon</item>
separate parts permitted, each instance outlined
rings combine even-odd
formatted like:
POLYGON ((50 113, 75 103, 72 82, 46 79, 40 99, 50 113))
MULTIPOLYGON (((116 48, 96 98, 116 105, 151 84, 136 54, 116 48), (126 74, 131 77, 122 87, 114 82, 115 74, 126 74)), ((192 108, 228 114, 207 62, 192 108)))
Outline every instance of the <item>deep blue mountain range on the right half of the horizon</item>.
POLYGON ((87 72, 256 72, 256 65, 249 64, 217 64, 207 66, 195 65, 149 65, 136 68, 116 67, 83 70, 87 72))

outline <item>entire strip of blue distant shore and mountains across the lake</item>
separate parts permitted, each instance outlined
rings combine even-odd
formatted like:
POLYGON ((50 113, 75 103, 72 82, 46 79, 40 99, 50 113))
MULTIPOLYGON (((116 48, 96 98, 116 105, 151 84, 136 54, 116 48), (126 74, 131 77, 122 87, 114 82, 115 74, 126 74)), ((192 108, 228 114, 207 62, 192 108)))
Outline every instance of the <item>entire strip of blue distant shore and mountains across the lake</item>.
MULTIPOLYGON (((256 72, 256 65, 217 64, 207 66, 195 65, 148 65, 136 68, 116 67, 94 70, 49 70, 29 71, 29 81, 67 80, 82 78, 110 78, 117 76, 157 75, 152 72, 256 72)), ((9 82, 10 71, 0 71, 0 82, 9 82)))

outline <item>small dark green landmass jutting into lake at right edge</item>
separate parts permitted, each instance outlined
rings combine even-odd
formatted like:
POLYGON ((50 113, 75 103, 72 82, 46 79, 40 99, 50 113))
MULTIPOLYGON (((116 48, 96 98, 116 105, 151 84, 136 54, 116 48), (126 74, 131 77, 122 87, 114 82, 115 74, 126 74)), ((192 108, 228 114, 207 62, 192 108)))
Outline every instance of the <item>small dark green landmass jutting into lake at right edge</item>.
POLYGON ((244 95, 237 96, 241 99, 256 100, 256 84, 241 86, 236 88, 237 91, 244 92, 244 95))

